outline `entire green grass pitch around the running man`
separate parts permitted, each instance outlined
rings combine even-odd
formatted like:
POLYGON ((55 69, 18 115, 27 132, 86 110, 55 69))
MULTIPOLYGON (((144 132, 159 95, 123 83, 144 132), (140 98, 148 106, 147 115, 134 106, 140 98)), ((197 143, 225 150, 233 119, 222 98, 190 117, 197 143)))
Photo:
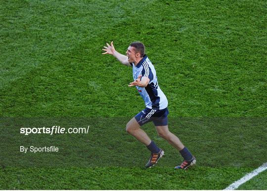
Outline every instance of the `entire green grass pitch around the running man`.
MULTIPOLYGON (((2 0, 0 189, 222 190, 262 165, 266 13, 265 0, 2 0), (132 41, 146 45, 169 101, 170 130, 196 155, 194 168, 176 171, 182 158, 147 124, 166 156, 143 169, 149 153, 125 126, 144 104, 128 87, 132 69, 101 54, 111 40, 121 53, 132 41), (19 134, 22 121, 45 117, 84 118, 90 132, 19 134), (17 152, 31 141, 68 149, 17 152)), ((267 190, 266 180, 265 171, 239 189, 267 190)))

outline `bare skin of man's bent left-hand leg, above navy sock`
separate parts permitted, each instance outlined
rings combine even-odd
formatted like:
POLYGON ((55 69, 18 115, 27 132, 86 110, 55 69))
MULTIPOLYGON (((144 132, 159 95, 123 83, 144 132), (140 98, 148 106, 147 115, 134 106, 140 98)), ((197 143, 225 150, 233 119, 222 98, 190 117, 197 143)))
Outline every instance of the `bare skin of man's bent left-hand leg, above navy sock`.
POLYGON ((140 125, 137 123, 134 117, 127 123, 126 131, 133 135, 135 139, 143 143, 145 146, 148 146, 151 143, 151 139, 142 129, 140 129, 140 125))

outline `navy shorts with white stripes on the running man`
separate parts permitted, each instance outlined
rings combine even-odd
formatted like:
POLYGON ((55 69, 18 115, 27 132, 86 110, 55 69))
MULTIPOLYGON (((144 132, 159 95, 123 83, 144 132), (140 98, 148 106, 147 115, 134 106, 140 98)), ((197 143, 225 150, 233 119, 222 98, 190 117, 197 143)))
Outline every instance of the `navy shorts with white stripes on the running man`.
POLYGON ((168 108, 165 108, 163 110, 145 108, 139 114, 135 115, 134 118, 140 126, 150 121, 153 121, 155 126, 165 126, 168 125, 168 114, 168 108))

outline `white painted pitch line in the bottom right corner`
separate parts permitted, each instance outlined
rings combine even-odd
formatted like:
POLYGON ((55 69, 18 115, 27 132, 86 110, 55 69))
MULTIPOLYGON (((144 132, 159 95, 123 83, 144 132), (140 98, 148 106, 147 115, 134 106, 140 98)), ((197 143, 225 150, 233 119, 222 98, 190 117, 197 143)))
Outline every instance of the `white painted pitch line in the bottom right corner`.
POLYGON ((233 184, 231 184, 230 186, 228 186, 224 190, 235 190, 240 185, 244 184, 245 182, 249 181, 250 179, 252 179, 253 177, 257 176, 258 174, 260 174, 261 172, 263 172, 265 170, 267 170, 267 162, 264 163, 259 168, 253 170, 251 173, 246 174, 243 178, 239 179, 238 181, 235 181, 233 184))

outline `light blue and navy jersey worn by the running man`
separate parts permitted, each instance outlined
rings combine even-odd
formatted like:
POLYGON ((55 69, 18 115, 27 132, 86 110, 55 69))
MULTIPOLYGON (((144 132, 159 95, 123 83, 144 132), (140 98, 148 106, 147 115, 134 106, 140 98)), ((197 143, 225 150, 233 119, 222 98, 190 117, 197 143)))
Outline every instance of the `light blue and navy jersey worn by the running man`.
POLYGON ((145 106, 154 110, 163 110, 167 108, 168 100, 158 85, 155 68, 148 57, 144 55, 142 60, 140 60, 136 66, 134 66, 134 63, 131 63, 131 65, 133 66, 134 80, 137 79, 139 75, 150 79, 146 87, 136 86, 139 94, 145 102, 145 106))

